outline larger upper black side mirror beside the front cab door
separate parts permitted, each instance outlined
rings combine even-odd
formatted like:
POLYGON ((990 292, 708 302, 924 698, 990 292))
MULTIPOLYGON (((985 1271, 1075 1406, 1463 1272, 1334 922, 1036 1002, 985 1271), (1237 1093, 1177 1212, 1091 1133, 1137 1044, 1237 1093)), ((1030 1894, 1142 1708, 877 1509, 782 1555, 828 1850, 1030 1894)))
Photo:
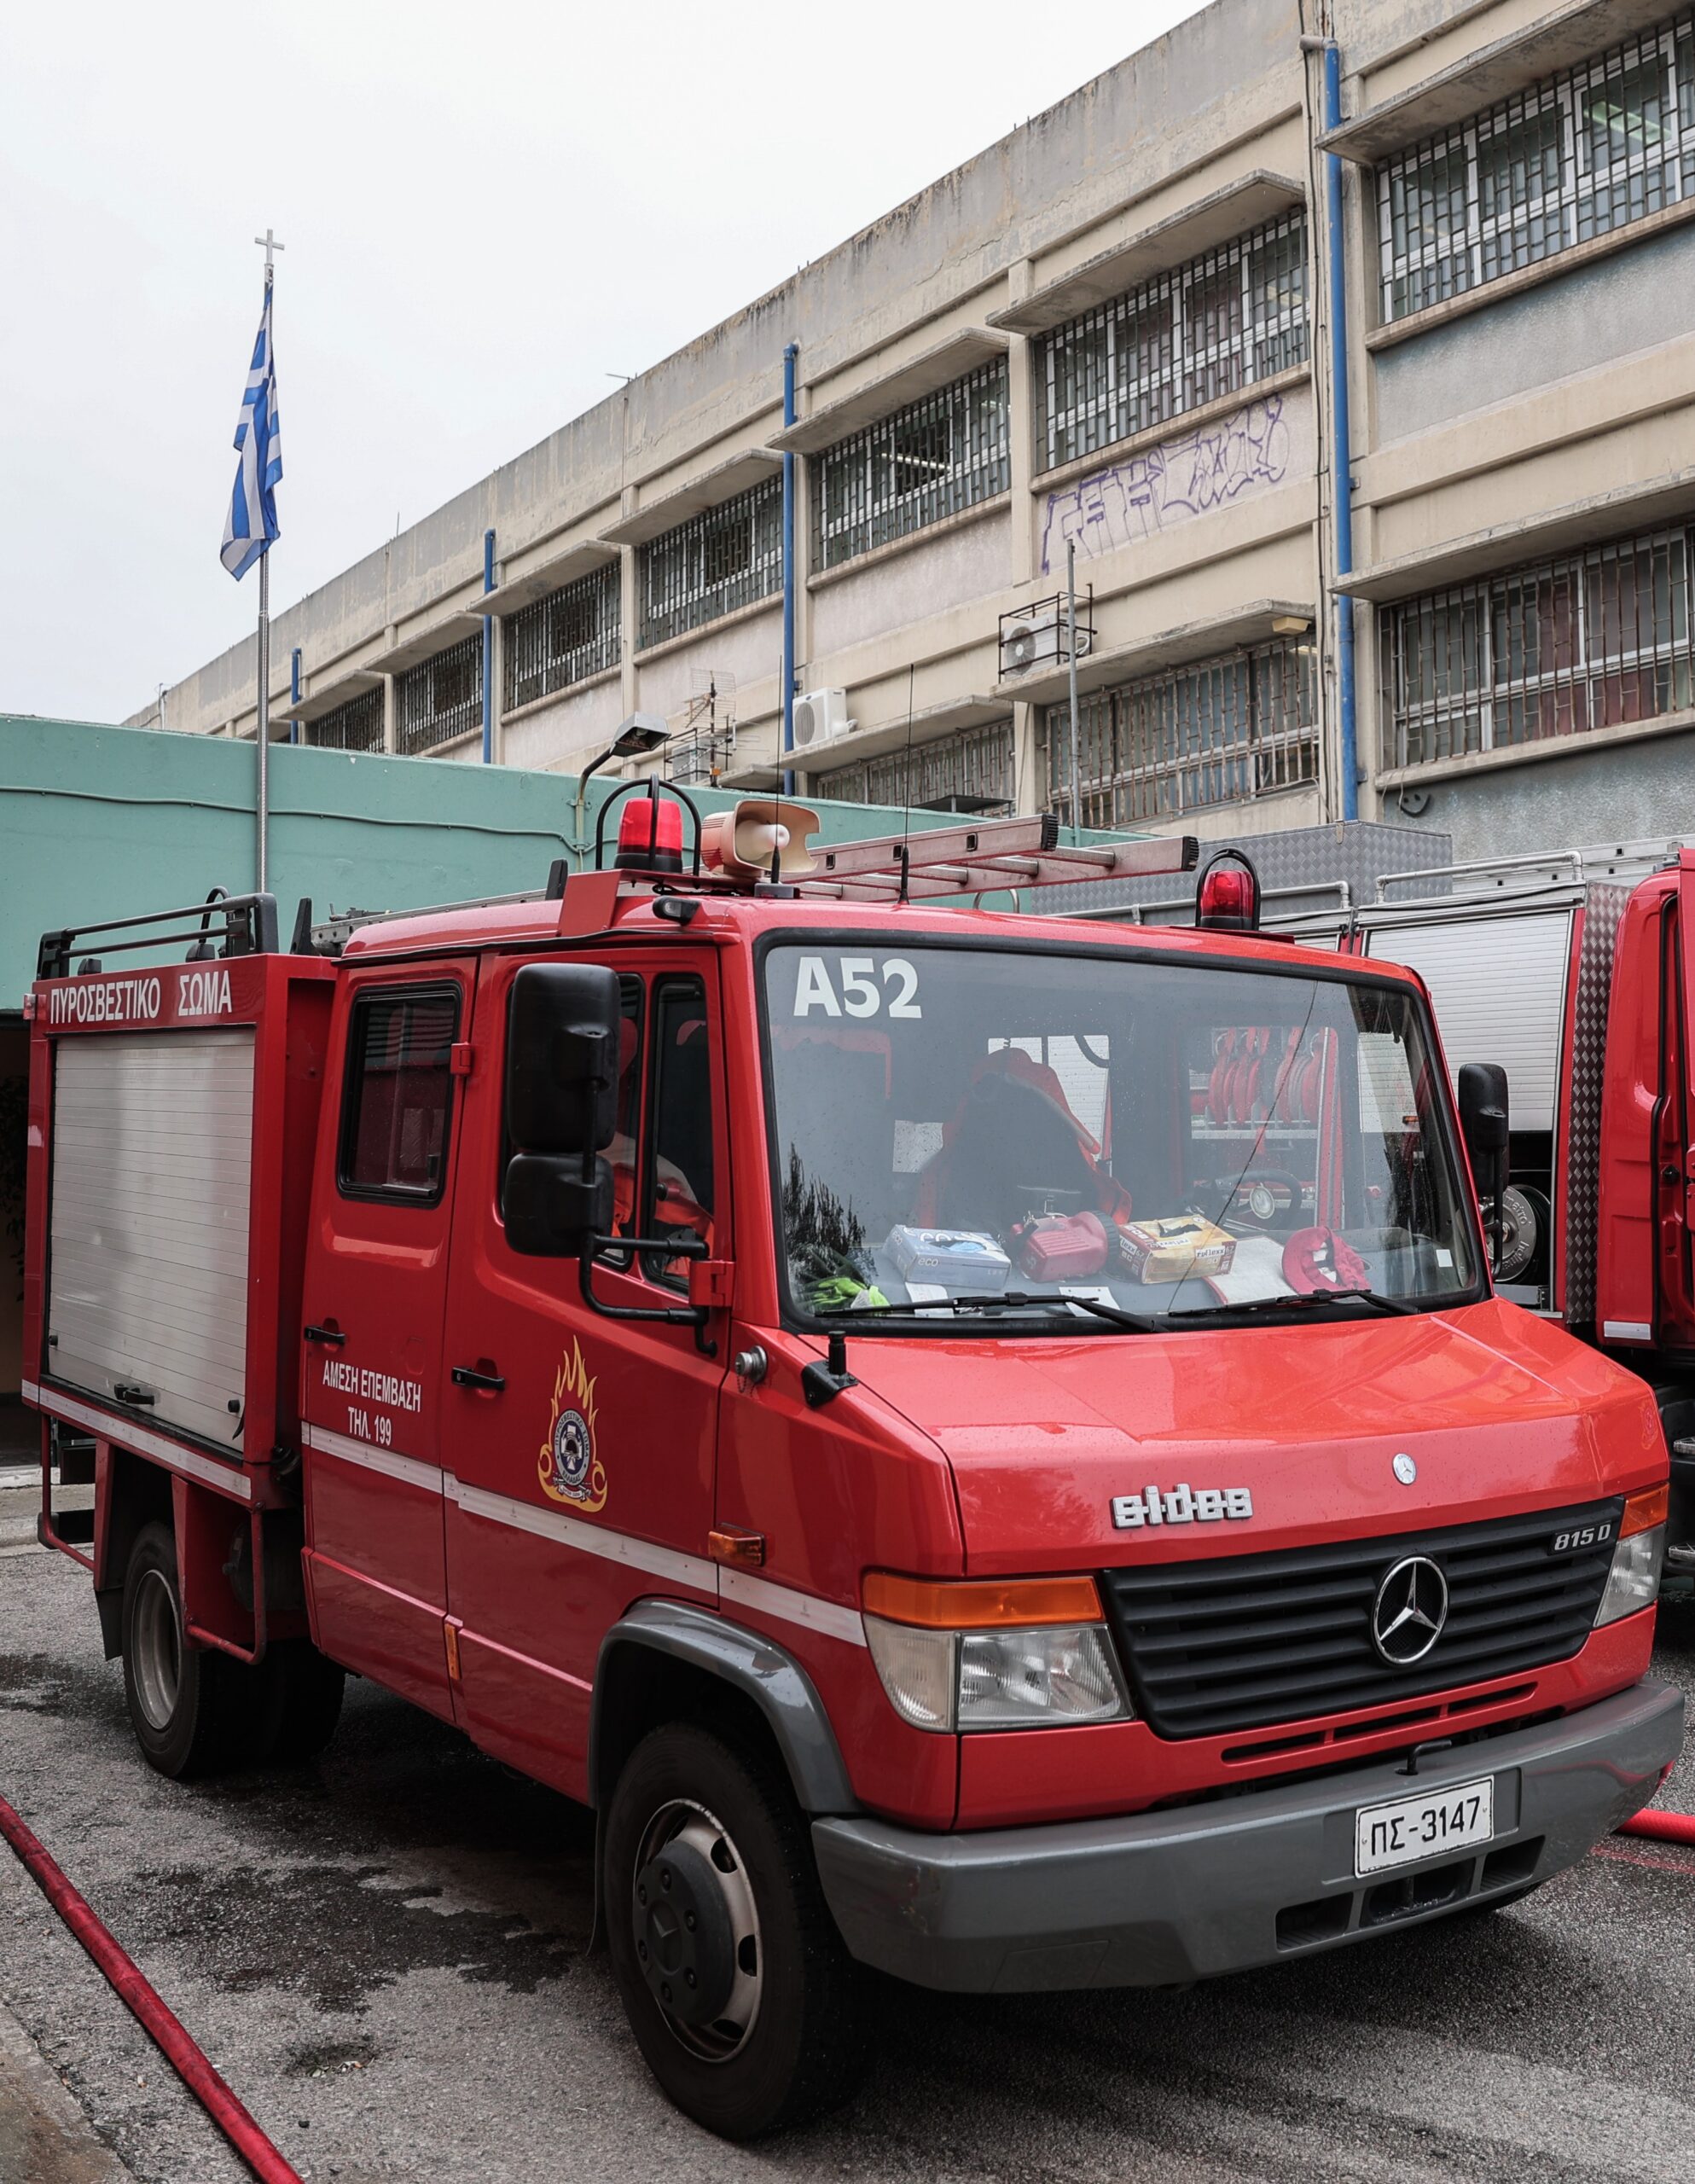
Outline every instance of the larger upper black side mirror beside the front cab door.
POLYGON ((612 1144, 618 1018, 618 974, 603 963, 526 963, 518 972, 507 1020, 507 1140, 515 1153, 588 1158, 612 1144))

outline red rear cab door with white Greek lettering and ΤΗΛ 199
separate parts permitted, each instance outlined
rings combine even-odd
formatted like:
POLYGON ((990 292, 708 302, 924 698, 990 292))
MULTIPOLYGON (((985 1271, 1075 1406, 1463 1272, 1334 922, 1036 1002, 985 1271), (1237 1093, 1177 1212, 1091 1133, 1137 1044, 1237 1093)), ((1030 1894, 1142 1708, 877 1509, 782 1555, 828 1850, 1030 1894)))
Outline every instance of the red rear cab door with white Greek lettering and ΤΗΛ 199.
POLYGON ((347 972, 301 1284, 317 1642, 443 1717, 441 1321, 474 978, 474 959, 347 972))

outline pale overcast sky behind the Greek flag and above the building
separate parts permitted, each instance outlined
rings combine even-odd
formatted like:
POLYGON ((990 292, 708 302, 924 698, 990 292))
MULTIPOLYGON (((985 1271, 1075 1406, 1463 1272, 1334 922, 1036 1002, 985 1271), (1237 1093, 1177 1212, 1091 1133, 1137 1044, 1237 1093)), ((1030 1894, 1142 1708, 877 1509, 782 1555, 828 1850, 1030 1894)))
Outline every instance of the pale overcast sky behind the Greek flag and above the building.
POLYGON ((100 0, 0 50, 0 712, 120 721, 1199 0, 100 0))

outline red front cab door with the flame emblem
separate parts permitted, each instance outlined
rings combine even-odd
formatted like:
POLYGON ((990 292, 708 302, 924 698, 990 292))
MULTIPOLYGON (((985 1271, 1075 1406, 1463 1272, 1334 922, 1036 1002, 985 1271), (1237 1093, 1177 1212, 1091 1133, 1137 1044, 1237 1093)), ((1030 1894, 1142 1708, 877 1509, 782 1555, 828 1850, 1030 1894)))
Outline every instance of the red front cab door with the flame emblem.
MULTIPOLYGON (((716 961, 616 957, 623 994, 616 1227, 690 1230, 730 1258, 716 961)), ((588 1791, 601 1638, 644 1594, 716 1603, 708 1559, 730 1317, 607 1319, 574 1258, 526 1258, 500 1216, 507 1013, 520 959, 489 959, 448 1282, 448 1605, 459 1719, 485 1752, 572 1797, 588 1791)), ((688 1304, 686 1267, 607 1249, 607 1304, 688 1304)), ((727 1295, 725 1295, 727 1304, 727 1295)))

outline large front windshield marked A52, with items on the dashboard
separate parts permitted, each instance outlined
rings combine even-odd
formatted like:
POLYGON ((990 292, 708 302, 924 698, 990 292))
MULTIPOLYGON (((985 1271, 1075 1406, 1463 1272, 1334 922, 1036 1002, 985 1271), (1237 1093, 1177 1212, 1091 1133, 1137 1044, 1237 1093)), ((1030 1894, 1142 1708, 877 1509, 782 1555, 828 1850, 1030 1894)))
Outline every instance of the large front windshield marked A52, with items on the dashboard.
POLYGON ((764 1007, 802 1313, 924 1304, 1040 1328, 1083 1324, 1086 1299, 1278 1317, 1474 1291, 1439 1070, 1402 987, 795 941, 767 950, 764 1007))

